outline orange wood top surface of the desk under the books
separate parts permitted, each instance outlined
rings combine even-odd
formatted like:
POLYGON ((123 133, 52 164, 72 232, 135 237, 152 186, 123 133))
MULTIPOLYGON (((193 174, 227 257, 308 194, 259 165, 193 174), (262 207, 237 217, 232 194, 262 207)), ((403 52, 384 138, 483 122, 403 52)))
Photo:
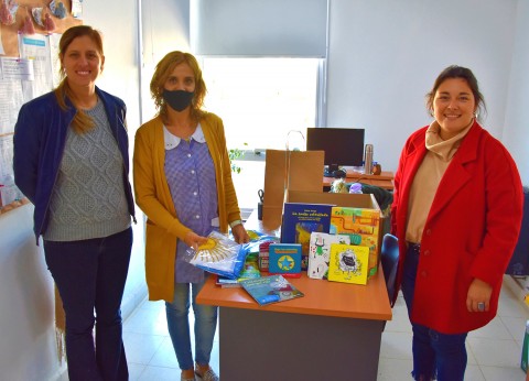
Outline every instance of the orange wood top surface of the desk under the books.
POLYGON ((299 279, 288 280, 305 296, 259 306, 244 289, 222 289, 215 284, 215 276, 212 275, 196 301, 219 307, 391 320, 391 307, 381 272, 369 279, 367 285, 313 280, 306 276, 306 272, 299 279))

